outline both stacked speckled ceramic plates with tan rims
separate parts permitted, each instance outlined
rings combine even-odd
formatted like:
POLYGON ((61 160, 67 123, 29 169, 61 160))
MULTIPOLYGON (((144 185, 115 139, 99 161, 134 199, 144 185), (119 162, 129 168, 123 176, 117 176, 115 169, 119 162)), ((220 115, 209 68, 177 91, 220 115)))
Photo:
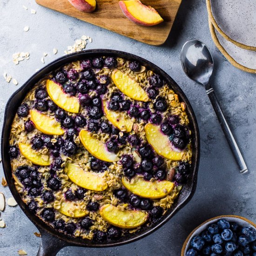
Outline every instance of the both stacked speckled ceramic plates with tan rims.
POLYGON ((235 67, 256 73, 256 1, 206 0, 216 47, 235 67))

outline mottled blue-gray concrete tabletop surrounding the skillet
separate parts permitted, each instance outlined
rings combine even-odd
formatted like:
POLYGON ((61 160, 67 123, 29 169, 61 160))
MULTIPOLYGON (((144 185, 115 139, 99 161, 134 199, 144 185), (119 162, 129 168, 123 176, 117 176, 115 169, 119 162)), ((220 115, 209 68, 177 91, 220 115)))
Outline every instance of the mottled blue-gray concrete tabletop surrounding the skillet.
MULTIPOLYGON (((110 48, 137 54, 170 74, 188 96, 201 132, 201 162, 198 186, 193 199, 166 225, 140 241, 110 249, 69 247, 58 256, 178 256, 189 232, 206 219, 222 214, 236 214, 256 221, 256 75, 233 67, 211 40, 204 0, 183 0, 167 42, 161 47, 148 46, 95 27, 80 20, 38 6, 33 0, 0 1, 0 127, 4 107, 11 94, 34 74, 43 52, 46 64, 60 57, 68 45, 83 34, 93 38, 87 49, 110 48), (33 8, 30 14, 22 5, 33 8), (26 33, 23 27, 29 26, 26 33), (204 89, 183 74, 180 51, 191 38, 203 40, 213 53, 215 72, 212 84, 248 164, 249 173, 241 175, 204 89), (58 54, 52 54, 53 48, 58 54), (12 54, 29 52, 30 60, 15 66, 12 54), (19 85, 8 84, 4 72, 15 77, 19 85)), ((0 167, 0 179, 3 176, 0 167)), ((8 188, 0 191, 11 196, 8 188)), ((18 255, 25 249, 35 256, 40 238, 37 229, 19 207, 7 207, 0 216, 7 227, 0 229, 0 255, 18 255)))

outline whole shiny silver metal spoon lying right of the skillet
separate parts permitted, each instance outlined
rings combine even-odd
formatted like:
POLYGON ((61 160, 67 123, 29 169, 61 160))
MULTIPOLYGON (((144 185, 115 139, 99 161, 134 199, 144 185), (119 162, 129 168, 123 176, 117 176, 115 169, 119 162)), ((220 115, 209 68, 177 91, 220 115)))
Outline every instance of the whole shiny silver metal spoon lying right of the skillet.
POLYGON ((209 84, 209 79, 213 71, 213 58, 208 47, 200 40, 192 39, 187 41, 182 47, 181 62, 185 74, 193 81, 202 84, 206 89, 222 130, 236 158, 240 172, 246 173, 248 169, 243 160, 243 156, 222 113, 222 109, 216 98, 214 90, 209 84))

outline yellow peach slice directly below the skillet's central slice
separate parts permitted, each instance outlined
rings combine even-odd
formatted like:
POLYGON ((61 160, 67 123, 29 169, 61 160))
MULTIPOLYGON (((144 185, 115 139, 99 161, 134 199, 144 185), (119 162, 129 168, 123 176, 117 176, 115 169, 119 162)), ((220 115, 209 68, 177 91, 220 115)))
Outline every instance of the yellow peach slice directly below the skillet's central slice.
POLYGON ((94 172, 85 172, 76 164, 68 163, 65 167, 68 178, 84 189, 103 191, 108 188, 105 178, 94 172))

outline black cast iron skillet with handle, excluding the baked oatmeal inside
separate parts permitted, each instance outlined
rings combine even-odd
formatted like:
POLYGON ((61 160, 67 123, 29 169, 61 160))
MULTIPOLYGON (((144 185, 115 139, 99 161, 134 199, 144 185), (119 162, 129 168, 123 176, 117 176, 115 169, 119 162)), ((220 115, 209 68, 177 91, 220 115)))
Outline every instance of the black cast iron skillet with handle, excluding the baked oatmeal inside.
POLYGON ((173 79, 166 74, 162 69, 155 66, 153 63, 142 59, 133 54, 128 54, 121 51, 115 50, 105 50, 105 49, 95 49, 95 50, 87 50, 82 51, 79 53, 69 54, 67 56, 61 57, 60 59, 53 61, 46 67, 42 68, 36 74, 34 74, 21 88, 19 88, 9 99, 7 102, 7 106, 5 109, 5 116, 4 116, 4 125, 2 130, 2 137, 1 137, 1 153, 2 153, 2 162, 5 177, 11 190, 13 197, 19 204, 20 208, 23 212, 27 215, 27 217, 35 224, 35 226, 40 230, 41 234, 41 243, 40 249, 38 251, 37 256, 55 256, 58 251, 66 246, 83 246, 83 247, 110 247, 116 245, 123 245, 126 243, 134 242, 142 237, 145 237, 155 231, 156 229, 160 228, 165 222, 167 222, 174 214, 181 209, 189 200, 192 198, 197 182, 197 171, 199 165, 199 156, 200 156, 200 141, 199 141, 199 129, 197 125, 197 121, 195 118, 194 111, 189 104, 189 100, 182 92, 181 88, 173 81, 173 79), (134 234, 129 234, 127 236, 122 236, 119 240, 111 242, 111 243, 97 243, 95 241, 89 241, 81 238, 73 238, 65 236, 42 220, 40 220, 37 216, 32 214, 29 210, 27 205, 21 200, 20 195, 18 194, 14 180, 12 178, 11 172, 11 165, 10 165, 10 157, 8 155, 8 147, 9 147, 9 133, 11 129, 11 124, 14 118, 15 113, 17 112, 18 107, 21 104, 21 101, 24 99, 25 95, 29 92, 29 90, 37 83, 41 78, 43 78, 49 72, 65 65, 69 62, 86 59, 88 57, 96 57, 96 56, 116 56, 122 57, 127 60, 136 60, 141 63, 141 65, 148 67, 149 69, 153 70, 156 74, 162 75, 164 79, 167 81, 171 88, 179 95, 180 101, 183 101, 187 105, 187 113, 189 116, 190 122, 190 129, 192 132, 192 170, 191 174, 189 175, 189 179, 185 186, 183 187, 179 197, 174 202, 172 207, 168 210, 168 212, 162 216, 159 222, 152 224, 151 226, 143 226, 138 232, 134 234))

